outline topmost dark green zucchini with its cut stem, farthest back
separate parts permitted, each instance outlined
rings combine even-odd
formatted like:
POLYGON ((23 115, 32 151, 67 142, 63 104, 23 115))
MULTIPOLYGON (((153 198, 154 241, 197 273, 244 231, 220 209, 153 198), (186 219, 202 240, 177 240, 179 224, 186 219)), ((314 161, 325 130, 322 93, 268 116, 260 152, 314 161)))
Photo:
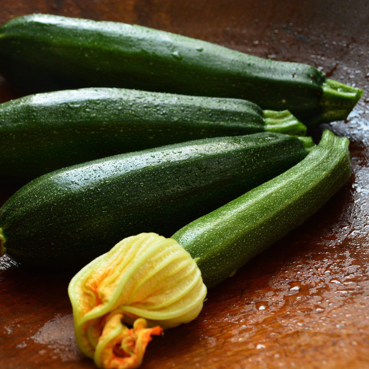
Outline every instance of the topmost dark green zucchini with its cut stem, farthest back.
POLYGON ((309 65, 139 25, 49 14, 1 26, 0 73, 29 92, 127 87, 241 98, 290 110, 307 125, 346 118, 362 94, 309 65))

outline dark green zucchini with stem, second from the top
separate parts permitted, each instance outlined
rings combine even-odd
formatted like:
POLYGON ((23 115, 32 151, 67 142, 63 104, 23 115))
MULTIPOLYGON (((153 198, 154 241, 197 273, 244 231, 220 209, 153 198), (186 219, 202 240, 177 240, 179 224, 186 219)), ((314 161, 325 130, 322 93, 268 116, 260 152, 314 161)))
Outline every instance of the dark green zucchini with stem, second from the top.
POLYGON ((104 87, 40 93, 0 104, 0 173, 33 179, 124 152, 262 131, 304 135, 306 127, 240 99, 104 87))

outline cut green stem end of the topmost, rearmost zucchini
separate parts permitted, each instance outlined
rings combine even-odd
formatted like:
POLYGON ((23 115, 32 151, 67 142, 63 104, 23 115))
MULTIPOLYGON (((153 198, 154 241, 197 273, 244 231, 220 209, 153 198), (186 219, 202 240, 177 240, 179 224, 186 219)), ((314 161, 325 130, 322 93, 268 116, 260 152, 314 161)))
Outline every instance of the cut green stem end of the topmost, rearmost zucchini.
POLYGON ((359 101, 363 90, 345 85, 333 79, 326 79, 320 100, 321 123, 329 123, 347 118, 359 101))

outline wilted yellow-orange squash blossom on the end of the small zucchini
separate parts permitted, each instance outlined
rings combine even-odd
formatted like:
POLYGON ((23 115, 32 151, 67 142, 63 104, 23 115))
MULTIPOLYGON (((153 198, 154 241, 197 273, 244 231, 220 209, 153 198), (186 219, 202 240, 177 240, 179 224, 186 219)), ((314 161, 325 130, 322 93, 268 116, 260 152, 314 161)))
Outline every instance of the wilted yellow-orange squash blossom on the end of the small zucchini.
POLYGON ((151 335, 199 315, 206 287, 177 241, 141 233, 81 269, 68 293, 80 350, 99 368, 125 369, 141 364, 151 335))

